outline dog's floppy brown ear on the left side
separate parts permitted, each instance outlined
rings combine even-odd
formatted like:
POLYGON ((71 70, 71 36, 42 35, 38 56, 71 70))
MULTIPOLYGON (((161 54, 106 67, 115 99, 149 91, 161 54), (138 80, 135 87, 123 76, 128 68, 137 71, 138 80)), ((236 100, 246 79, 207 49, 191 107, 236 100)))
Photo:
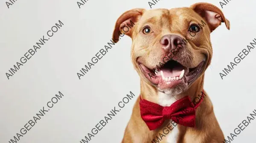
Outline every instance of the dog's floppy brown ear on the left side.
POLYGON ((117 20, 115 29, 113 31, 113 39, 119 40, 119 35, 126 34, 131 37, 132 31, 134 29, 134 25, 143 15, 145 9, 131 9, 123 13, 117 20), (125 28, 126 27, 126 28, 125 28), (128 29, 127 29, 128 28, 128 29), (129 29, 130 28, 130 29, 129 29))

